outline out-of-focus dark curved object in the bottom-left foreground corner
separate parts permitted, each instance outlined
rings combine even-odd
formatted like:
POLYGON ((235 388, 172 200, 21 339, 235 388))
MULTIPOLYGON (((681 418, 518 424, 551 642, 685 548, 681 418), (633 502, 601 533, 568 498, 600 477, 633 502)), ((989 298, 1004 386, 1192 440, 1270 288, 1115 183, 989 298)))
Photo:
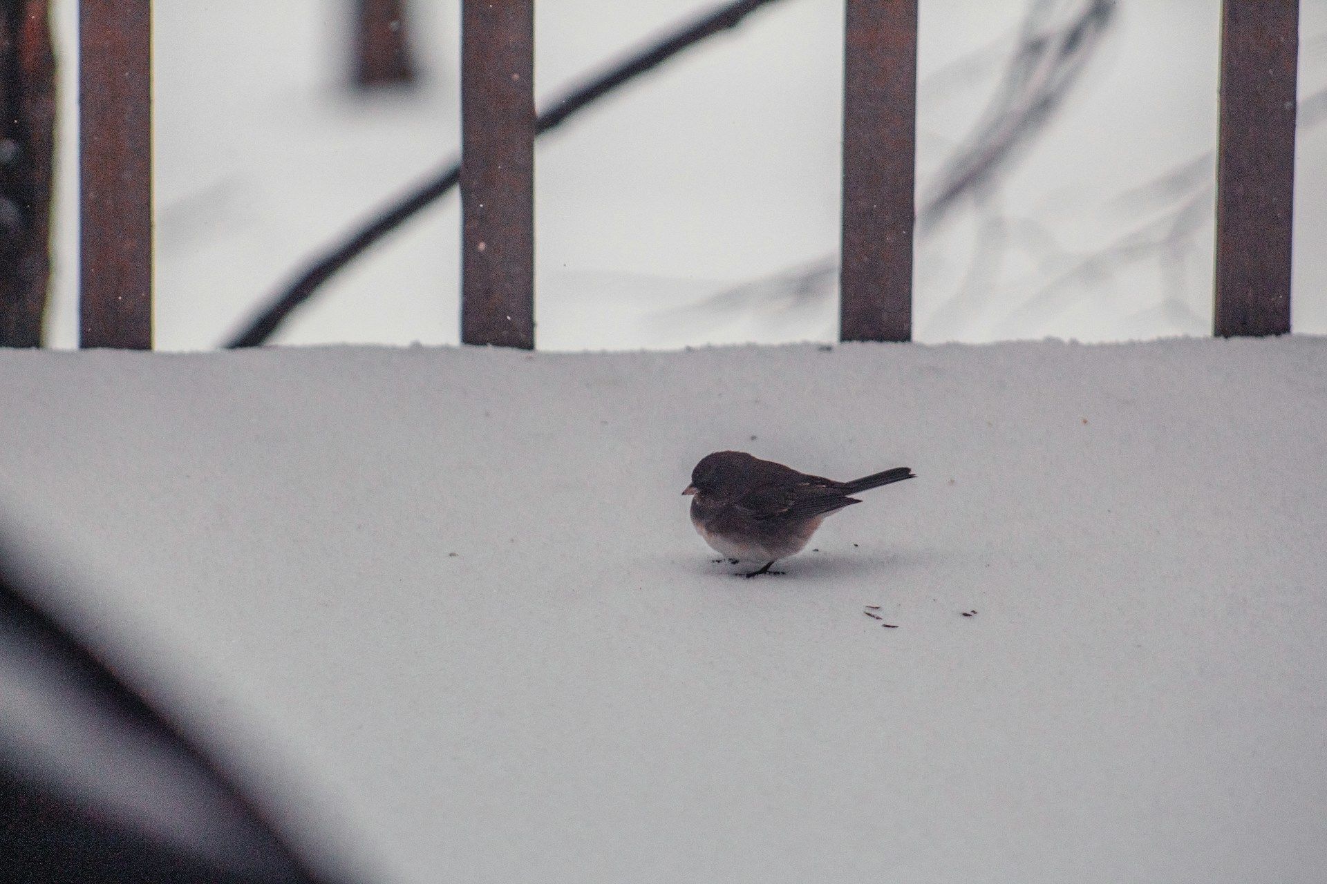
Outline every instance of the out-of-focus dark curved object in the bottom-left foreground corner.
POLYGON ((40 611, 0 538, 0 880, 314 883, 257 810, 40 611))

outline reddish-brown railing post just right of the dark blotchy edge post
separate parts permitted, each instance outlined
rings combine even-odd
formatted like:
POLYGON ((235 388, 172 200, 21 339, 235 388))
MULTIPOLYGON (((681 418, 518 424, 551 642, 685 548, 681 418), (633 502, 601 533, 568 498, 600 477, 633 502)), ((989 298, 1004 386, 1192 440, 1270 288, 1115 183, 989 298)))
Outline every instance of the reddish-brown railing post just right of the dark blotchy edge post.
POLYGON ((78 4, 80 346, 153 346, 151 0, 78 4))

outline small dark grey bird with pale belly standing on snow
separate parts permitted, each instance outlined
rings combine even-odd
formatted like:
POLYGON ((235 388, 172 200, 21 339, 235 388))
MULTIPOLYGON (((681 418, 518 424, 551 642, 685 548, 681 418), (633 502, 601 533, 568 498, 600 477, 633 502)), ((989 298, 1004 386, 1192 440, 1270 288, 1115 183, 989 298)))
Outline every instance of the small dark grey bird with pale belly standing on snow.
POLYGON ((916 474, 896 467, 836 482, 742 451, 717 451, 701 459, 682 493, 694 496, 691 525, 706 543, 731 559, 764 562, 746 575, 755 577, 805 546, 827 516, 860 504, 852 494, 905 478, 916 474))

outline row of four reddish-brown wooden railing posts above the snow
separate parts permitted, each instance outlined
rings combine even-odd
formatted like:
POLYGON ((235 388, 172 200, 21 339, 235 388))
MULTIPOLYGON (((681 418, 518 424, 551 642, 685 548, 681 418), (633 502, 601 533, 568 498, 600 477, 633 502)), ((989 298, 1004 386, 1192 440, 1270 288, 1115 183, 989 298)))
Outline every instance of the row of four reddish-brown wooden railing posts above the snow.
MULTIPOLYGON (((912 337, 918 0, 845 0, 840 339, 912 337)), ((84 347, 151 347, 150 0, 81 0, 84 347)), ((1298 0, 1223 0, 1217 335, 1290 331, 1298 0)), ((533 0, 462 0, 462 342, 535 346, 533 0)))

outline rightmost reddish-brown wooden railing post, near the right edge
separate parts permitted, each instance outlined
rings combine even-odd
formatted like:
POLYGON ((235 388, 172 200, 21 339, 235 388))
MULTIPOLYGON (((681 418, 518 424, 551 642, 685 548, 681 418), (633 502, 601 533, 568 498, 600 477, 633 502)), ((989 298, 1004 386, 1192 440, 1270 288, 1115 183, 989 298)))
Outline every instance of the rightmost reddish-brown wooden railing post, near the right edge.
POLYGON ((1298 0, 1225 0, 1214 333, 1290 331, 1298 0))

